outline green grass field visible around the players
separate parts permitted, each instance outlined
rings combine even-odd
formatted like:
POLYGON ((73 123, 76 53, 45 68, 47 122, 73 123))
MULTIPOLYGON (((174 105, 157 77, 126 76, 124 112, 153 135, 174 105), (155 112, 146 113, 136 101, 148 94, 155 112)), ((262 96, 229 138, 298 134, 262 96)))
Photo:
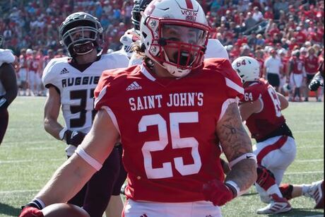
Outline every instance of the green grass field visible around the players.
MULTIPOLYGON (((0 146, 0 216, 18 216, 20 206, 65 160, 64 143, 43 129, 44 103, 45 98, 18 97, 9 107, 9 126, 0 146)), ((295 102, 283 113, 297 142, 297 158, 283 181, 302 184, 324 179, 324 104, 295 102)), ((324 211, 312 209, 311 199, 300 197, 291 204, 293 211, 278 216, 324 216, 324 211)), ((255 213, 262 206, 252 187, 248 195, 223 206, 223 216, 263 216, 255 213)))

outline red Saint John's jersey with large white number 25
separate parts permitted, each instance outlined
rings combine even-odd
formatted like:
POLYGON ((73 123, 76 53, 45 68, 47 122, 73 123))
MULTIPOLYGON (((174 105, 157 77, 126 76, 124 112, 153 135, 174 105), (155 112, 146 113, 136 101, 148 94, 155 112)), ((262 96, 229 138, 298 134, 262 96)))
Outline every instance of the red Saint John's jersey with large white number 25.
POLYGON ((226 59, 207 59, 183 78, 156 78, 145 66, 104 71, 95 109, 119 130, 134 200, 204 200, 203 183, 224 180, 215 126, 242 82, 226 59))

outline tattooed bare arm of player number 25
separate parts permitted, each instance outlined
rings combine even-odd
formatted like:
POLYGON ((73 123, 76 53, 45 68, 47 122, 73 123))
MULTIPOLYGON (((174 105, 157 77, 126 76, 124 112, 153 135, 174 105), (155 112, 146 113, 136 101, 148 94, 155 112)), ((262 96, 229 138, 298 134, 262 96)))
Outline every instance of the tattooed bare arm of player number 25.
MULTIPOLYGON (((252 142, 242 125, 237 103, 231 103, 216 127, 223 152, 232 162, 246 153, 253 153, 252 142)), ((232 166, 225 181, 236 182, 241 191, 248 189, 256 181, 256 162, 254 158, 238 161, 232 166)))

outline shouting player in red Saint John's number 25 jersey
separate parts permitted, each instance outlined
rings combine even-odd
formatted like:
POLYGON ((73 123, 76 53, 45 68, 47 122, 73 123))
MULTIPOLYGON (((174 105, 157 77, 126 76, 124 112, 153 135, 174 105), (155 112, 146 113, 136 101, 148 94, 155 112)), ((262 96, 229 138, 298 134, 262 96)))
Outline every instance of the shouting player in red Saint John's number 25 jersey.
POLYGON ((219 206, 256 180, 240 77, 227 59, 203 62, 209 27, 197 1, 155 0, 142 14, 143 64, 102 74, 92 129, 36 199, 68 200, 119 140, 124 216, 221 216, 219 206), (232 168, 226 178, 218 143, 232 168))

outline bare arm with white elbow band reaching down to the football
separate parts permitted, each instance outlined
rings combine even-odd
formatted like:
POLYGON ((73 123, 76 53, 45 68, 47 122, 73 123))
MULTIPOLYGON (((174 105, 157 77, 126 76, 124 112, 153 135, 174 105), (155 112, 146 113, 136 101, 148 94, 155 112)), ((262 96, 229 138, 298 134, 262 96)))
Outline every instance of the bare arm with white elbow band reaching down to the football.
POLYGON ((61 165, 36 198, 43 201, 45 206, 71 199, 100 169, 97 166, 102 165, 110 155, 118 137, 110 116, 105 110, 100 110, 77 153, 61 165))

